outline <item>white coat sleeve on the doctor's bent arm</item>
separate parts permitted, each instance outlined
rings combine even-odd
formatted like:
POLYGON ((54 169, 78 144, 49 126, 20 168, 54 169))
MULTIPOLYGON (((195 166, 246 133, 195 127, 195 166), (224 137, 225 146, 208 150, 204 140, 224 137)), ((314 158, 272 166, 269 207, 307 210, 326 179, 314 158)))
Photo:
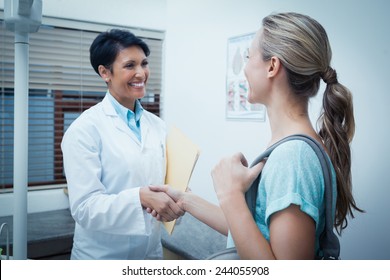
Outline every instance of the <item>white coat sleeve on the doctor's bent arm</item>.
POLYGON ((140 188, 108 193, 101 181, 102 147, 96 128, 87 125, 69 127, 61 148, 70 210, 75 221, 83 228, 96 231, 144 234, 147 226, 140 202, 140 188))

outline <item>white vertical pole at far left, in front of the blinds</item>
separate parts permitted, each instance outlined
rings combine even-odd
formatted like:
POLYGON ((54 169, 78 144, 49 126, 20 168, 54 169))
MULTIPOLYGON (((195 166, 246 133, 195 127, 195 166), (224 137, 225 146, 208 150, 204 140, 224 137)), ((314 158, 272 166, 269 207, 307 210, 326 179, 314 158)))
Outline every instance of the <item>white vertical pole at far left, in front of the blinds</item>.
POLYGON ((27 259, 29 35, 15 32, 13 257, 27 259))

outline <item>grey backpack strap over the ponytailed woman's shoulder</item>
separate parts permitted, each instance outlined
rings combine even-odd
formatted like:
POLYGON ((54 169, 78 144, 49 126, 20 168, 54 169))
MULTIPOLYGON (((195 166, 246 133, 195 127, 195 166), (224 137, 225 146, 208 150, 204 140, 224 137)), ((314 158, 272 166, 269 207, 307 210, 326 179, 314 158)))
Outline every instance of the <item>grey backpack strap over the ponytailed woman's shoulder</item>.
MULTIPOLYGON (((331 173, 330 163, 327 159, 326 152, 324 151, 322 145, 318 143, 315 139, 307 135, 294 134, 286 138, 283 138, 282 140, 278 141, 277 143, 269 147, 266 151, 264 151, 253 161, 251 167, 258 164, 262 160, 268 158, 269 155, 277 146, 291 140, 302 140, 305 141, 307 144, 309 144, 310 147, 316 153, 321 163, 322 173, 324 176, 324 183, 325 183, 325 228, 320 236, 320 250, 323 253, 321 258, 337 260, 339 259, 340 256, 340 242, 336 234, 333 232, 332 173, 331 173)), ((251 211, 253 217, 255 217, 255 212, 256 212, 256 197, 257 197, 258 186, 260 183, 260 177, 261 177, 261 173, 252 183, 248 191, 245 193, 245 200, 248 204, 248 208, 251 211)))

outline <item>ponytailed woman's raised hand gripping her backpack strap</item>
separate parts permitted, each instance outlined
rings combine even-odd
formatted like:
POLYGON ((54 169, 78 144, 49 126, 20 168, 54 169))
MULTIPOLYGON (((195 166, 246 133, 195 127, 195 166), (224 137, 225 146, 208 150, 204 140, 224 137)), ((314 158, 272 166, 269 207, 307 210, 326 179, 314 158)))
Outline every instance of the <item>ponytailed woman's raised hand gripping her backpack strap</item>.
POLYGON ((242 153, 222 159, 212 170, 214 189, 218 199, 224 200, 235 193, 245 193, 260 174, 264 163, 248 168, 248 162, 242 153))

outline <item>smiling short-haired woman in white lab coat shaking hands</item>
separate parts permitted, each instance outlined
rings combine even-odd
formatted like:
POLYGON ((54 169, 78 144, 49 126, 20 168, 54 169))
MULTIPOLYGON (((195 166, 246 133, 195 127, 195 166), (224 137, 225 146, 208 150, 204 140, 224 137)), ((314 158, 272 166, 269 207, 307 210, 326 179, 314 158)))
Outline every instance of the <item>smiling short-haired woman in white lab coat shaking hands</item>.
POLYGON ((94 70, 108 90, 66 131, 61 148, 71 214, 71 259, 161 259, 160 223, 184 214, 163 192, 164 122, 139 102, 149 77, 148 46, 125 30, 110 30, 90 47, 94 70))

